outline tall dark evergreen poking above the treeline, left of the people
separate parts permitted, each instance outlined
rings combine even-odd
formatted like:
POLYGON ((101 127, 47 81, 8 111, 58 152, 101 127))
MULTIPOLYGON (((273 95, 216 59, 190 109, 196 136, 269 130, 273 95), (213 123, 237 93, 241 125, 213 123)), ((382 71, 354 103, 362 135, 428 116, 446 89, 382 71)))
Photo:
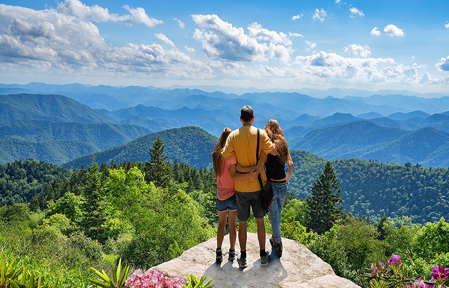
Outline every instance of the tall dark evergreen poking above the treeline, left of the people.
POLYGON ((173 178, 173 169, 164 155, 164 143, 158 136, 150 148, 150 162, 146 162, 145 180, 153 182, 157 187, 167 188, 173 178))

